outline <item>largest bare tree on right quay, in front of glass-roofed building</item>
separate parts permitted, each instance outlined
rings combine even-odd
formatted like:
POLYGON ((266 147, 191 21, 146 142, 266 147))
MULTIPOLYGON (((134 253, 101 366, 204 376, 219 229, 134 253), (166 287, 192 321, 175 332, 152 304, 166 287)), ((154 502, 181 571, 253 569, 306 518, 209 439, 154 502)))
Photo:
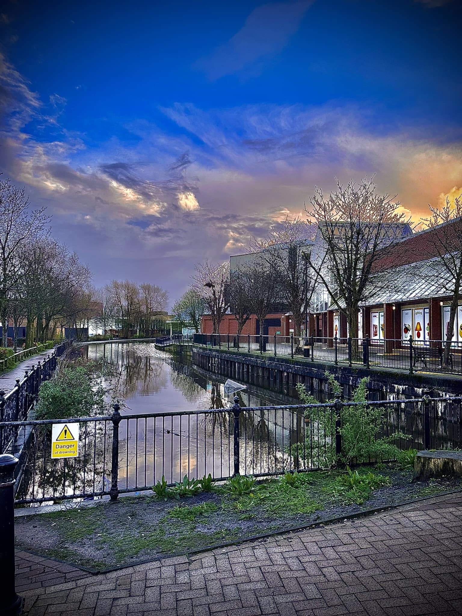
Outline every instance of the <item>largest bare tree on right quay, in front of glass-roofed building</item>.
MULTIPOLYGON (((365 301, 374 265, 383 259, 384 246, 396 245, 403 233, 410 233, 399 201, 389 194, 378 195, 371 179, 359 184, 350 180, 326 198, 322 189, 306 208, 318 224, 320 246, 310 259, 310 267, 325 285, 334 304, 346 312, 349 335, 358 338, 358 312, 365 301)), ((357 352, 357 344, 354 349, 357 352)))

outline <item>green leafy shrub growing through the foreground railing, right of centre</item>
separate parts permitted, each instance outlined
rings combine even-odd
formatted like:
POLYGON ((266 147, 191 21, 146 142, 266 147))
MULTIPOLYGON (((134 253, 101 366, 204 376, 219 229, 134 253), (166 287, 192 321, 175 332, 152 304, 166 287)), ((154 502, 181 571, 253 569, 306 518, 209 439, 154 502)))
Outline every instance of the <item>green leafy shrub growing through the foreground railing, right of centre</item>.
MULTIPOLYGON (((330 391, 334 395, 341 395, 341 385, 330 372, 325 373, 329 381, 330 391)), ((312 426, 312 434, 307 434, 305 450, 312 452, 312 466, 327 466, 330 468, 338 461, 346 464, 362 463, 368 461, 395 460, 399 448, 394 440, 408 438, 402 432, 394 432, 391 436, 379 436, 384 423, 386 410, 383 407, 370 405, 367 402, 368 378, 363 378, 354 391, 352 402, 354 405, 342 407, 341 428, 342 452, 338 458, 335 451, 335 424, 336 415, 331 407, 308 407, 305 415, 312 426)), ((307 405, 318 404, 310 395, 305 386, 297 385, 299 398, 307 405)), ((329 400, 330 404, 334 399, 329 400)), ((300 451, 300 448, 299 448, 300 451)), ((292 452, 293 448, 292 448, 292 452)))

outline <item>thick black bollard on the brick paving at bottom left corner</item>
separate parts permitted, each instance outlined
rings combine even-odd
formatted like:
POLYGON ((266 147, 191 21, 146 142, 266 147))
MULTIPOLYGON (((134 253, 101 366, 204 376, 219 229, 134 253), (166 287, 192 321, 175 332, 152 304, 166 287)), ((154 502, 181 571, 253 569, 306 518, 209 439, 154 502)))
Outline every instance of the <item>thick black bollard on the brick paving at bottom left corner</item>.
POLYGON ((16 616, 23 600, 14 582, 14 469, 18 459, 0 455, 0 615, 16 616))

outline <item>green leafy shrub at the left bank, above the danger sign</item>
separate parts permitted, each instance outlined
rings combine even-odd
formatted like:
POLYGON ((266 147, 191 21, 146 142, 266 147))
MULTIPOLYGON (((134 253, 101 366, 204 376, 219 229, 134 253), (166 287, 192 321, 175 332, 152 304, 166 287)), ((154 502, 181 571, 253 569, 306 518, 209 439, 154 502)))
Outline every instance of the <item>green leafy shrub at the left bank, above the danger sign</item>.
POLYGON ((63 365, 50 381, 40 386, 36 419, 65 419, 107 415, 110 388, 90 362, 63 365))

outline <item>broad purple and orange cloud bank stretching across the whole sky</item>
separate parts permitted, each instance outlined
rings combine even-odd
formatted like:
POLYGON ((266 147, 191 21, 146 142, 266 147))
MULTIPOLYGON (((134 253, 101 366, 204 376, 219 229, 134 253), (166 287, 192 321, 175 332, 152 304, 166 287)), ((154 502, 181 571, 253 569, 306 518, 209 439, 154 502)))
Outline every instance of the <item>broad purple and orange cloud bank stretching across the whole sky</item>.
POLYGON ((359 106, 177 103, 162 110, 172 132, 140 119, 121 127, 137 137, 129 145, 116 137, 88 145, 60 125, 61 97, 42 103, 5 62, 0 79, 0 168, 26 185, 34 206, 48 206, 53 232, 78 249, 97 284, 155 275, 175 298, 195 262, 245 252, 251 236, 303 214, 314 185, 328 192, 334 176, 376 172, 379 190, 399 193, 416 219, 461 185, 460 142, 445 144, 440 127, 434 139, 428 127, 375 134, 373 112, 359 106), (37 126, 51 130, 39 139, 37 126))

